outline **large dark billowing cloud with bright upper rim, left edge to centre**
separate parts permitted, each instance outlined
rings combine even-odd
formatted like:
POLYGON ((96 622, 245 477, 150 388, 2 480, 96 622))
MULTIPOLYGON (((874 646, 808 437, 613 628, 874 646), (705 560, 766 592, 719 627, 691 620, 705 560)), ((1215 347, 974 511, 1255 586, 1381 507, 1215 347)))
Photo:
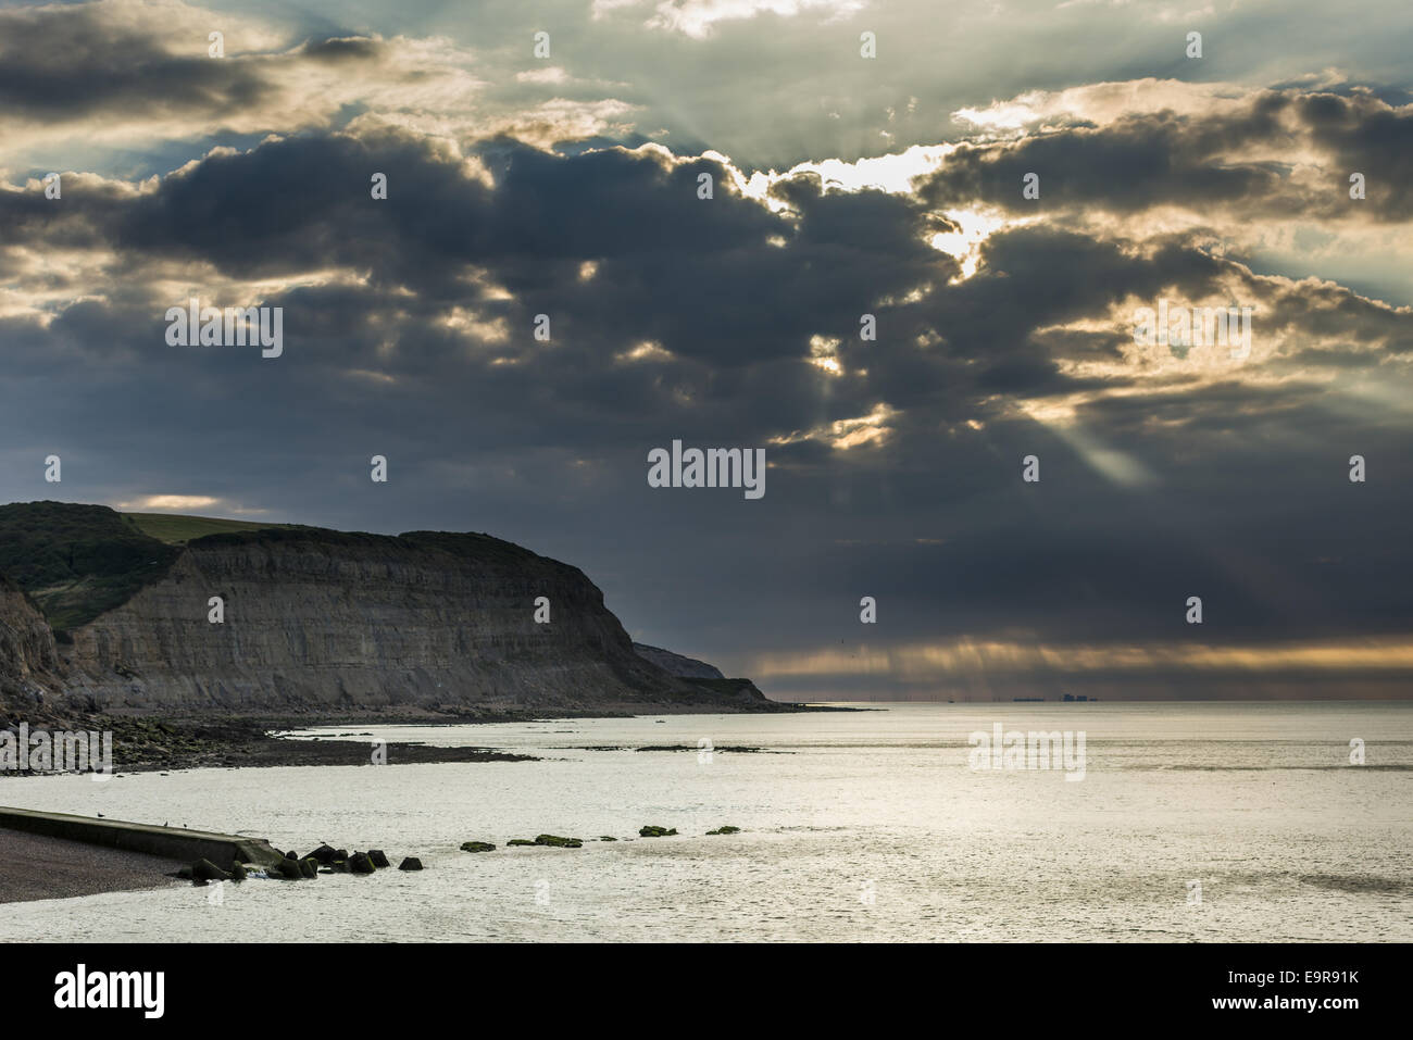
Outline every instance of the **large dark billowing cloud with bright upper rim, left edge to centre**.
POLYGON ((923 240, 950 225, 900 196, 822 194, 801 177, 779 189, 798 212, 787 219, 736 195, 711 160, 562 157, 506 140, 480 157, 495 189, 421 138, 308 136, 212 154, 126 202, 73 185, 58 220, 32 192, 0 206, 25 236, 54 246, 86 228, 129 263, 199 259, 240 278, 366 270, 377 285, 415 288, 414 309, 476 302, 485 288, 466 274, 486 267, 516 297, 487 305, 517 328, 545 312, 571 342, 616 331, 615 349, 658 341, 718 366, 797 358, 815 332, 856 336, 885 295, 955 273, 923 240), (369 195, 374 171, 389 177, 386 202, 369 195), (697 196, 702 172, 715 178, 711 201, 697 196), (599 264, 591 281, 578 277, 584 261, 599 264))

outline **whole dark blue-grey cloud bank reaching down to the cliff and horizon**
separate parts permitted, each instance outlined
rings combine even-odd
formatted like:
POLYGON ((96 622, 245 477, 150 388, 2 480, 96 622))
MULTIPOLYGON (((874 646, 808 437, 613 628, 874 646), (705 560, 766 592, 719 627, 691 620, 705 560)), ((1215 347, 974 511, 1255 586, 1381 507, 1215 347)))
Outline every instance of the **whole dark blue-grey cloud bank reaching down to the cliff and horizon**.
POLYGON ((1407 430, 1338 383, 1407 349, 1406 311, 1260 277, 1186 233, 1009 228, 966 278, 927 244, 954 229, 935 206, 1000 202, 1009 184, 1019 208, 1036 158, 1072 171, 1044 179, 1047 205, 1235 206, 1283 175, 1222 157, 1287 116, 1330 148, 1402 161, 1397 120, 1267 98, 1211 123, 962 148, 921 198, 801 174, 774 185, 781 213, 708 158, 499 138, 468 162, 389 130, 218 151, 140 194, 100 178, 73 178, 62 205, 0 192, 6 278, 85 297, 0 318, 11 455, 62 449, 65 490, 86 500, 136 488, 280 520, 490 530, 584 567, 649 642, 728 668, 859 640, 861 595, 880 599, 866 636, 882 642, 1191 640, 1194 593, 1217 640, 1406 632, 1407 430), (27 267, 59 250, 90 256, 97 284, 27 267), (284 307, 281 359, 164 345, 184 300, 158 280, 208 264, 218 283, 273 284, 222 287, 259 292, 222 302, 284 307), (1297 345, 1258 377, 1152 376, 1123 362, 1126 328, 1074 326, 1234 287, 1263 335, 1297 345), (550 343, 530 335, 541 312, 550 343), (877 342, 859 341, 863 312, 877 342), (810 363, 811 336, 838 341, 844 374, 810 363), (643 342, 666 355, 625 356, 643 342), (1067 400, 1072 422, 1024 410, 1067 400), (831 447, 832 424, 875 411, 875 439, 831 447), (766 497, 649 489, 647 449, 677 437, 770 445, 766 497), (367 480, 373 452, 391 459, 387 489, 367 480), (1375 483, 1348 483, 1354 452, 1375 483), (1027 454, 1040 485, 1020 483, 1027 454))

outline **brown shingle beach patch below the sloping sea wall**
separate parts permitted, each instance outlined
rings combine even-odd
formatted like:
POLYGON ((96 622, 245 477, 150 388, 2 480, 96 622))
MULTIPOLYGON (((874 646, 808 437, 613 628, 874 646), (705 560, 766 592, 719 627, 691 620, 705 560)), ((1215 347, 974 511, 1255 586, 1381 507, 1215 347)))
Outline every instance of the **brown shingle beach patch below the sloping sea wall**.
POLYGON ((189 885, 179 861, 0 828, 0 903, 189 885))

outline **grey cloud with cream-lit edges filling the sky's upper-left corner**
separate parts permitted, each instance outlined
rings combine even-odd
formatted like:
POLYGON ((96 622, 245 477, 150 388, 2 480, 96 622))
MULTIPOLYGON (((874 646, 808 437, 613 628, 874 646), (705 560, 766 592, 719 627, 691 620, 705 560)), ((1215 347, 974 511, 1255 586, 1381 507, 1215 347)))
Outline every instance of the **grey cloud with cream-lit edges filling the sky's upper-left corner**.
POLYGON ((172 0, 0 10, 0 134, 7 162, 45 153, 331 127, 376 105, 384 120, 465 127, 483 83, 447 38, 291 40, 246 16, 172 0), (225 34, 225 55, 208 34, 225 34))

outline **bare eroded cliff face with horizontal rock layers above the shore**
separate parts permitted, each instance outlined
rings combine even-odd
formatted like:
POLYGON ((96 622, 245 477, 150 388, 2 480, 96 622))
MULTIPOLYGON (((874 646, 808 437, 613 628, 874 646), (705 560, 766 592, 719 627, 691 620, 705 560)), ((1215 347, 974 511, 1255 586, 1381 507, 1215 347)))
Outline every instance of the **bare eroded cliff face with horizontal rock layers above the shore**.
POLYGON ((475 534, 211 536, 72 640, 59 647, 69 688, 103 709, 769 707, 640 658, 581 571, 475 534), (534 620, 538 596, 550 623, 534 620))

